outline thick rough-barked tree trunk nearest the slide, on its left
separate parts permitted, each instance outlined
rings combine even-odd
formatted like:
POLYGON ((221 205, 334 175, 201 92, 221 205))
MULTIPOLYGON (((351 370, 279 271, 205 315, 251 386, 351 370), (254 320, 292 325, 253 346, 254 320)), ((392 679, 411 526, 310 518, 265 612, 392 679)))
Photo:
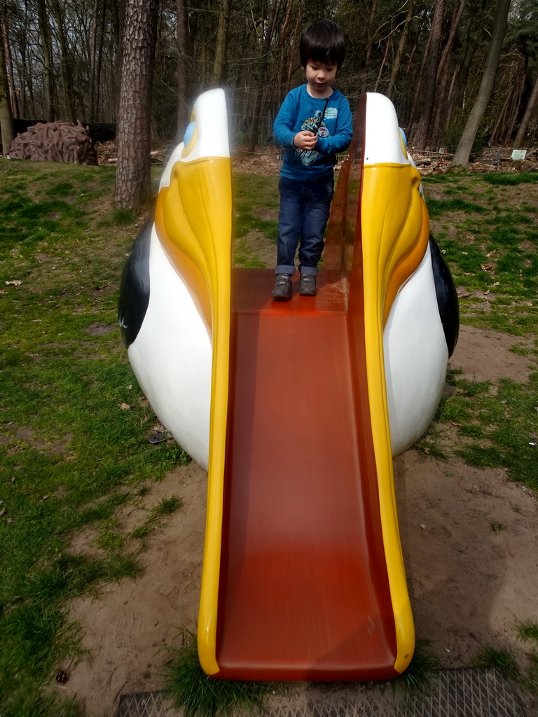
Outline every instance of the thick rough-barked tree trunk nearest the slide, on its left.
POLYGON ((115 204, 133 209, 150 193, 151 82, 159 0, 126 0, 122 37, 115 204))

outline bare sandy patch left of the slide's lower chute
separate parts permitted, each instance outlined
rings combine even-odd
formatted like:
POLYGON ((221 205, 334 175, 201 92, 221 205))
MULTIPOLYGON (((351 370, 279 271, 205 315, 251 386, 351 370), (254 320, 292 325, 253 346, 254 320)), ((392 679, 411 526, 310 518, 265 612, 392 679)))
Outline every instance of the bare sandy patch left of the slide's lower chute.
POLYGON ((111 585, 99 599, 73 602, 70 617, 82 625, 90 657, 62 665, 69 673, 62 691, 80 701, 83 716, 113 717, 121 694, 161 688, 171 657, 164 648, 181 645, 181 629, 195 629, 206 478, 192 462, 154 484, 151 502, 176 493, 183 506, 148 538, 143 575, 111 585))

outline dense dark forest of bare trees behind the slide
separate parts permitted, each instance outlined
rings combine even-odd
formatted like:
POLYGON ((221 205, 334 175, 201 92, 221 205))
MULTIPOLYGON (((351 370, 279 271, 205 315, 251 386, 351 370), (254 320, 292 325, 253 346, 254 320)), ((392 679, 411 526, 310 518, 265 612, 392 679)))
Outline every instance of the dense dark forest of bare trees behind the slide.
MULTIPOLYGON (((13 118, 115 124, 126 8, 133 4, 1 0, 0 80, 13 118)), ((395 104, 412 146, 455 151, 499 22, 498 4, 491 0, 138 4, 155 25, 149 58, 152 136, 167 143, 181 138, 194 98, 222 86, 228 90, 232 138, 250 151, 264 151, 272 142, 283 97, 303 81, 301 31, 320 16, 344 29, 348 54, 336 86, 351 108, 362 92, 382 92, 395 104)), ((476 149, 519 148, 538 140, 538 0, 505 4, 508 23, 476 149)), ((137 38, 128 42, 136 44, 137 38)), ((136 52, 128 61, 136 62, 133 57, 136 52)))

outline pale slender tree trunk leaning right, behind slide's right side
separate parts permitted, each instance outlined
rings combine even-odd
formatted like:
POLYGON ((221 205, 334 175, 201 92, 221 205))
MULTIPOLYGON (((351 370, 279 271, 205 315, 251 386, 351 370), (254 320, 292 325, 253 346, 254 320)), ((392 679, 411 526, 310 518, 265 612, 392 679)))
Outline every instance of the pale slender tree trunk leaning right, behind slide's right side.
POLYGON ((508 11, 510 9, 510 0, 499 0, 497 11, 495 14, 494 29, 489 42, 488 56, 486 57, 486 65, 484 67, 482 82, 478 90, 478 95, 468 116, 463 134, 456 148, 456 153, 452 158, 451 167, 463 166, 468 167, 469 155, 473 148, 473 142, 478 131, 483 113, 486 111, 486 105, 491 97, 493 90, 497 65, 499 64, 499 56, 501 54, 501 46, 506 33, 506 23, 508 21, 508 11))

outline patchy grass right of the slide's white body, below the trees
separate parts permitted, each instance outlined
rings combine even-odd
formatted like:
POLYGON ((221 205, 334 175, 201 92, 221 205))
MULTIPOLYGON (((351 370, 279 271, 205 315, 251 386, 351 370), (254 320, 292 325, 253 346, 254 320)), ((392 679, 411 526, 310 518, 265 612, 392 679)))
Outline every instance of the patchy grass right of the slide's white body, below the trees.
POLYGON ((537 206, 527 196, 532 196, 529 189, 535 191, 536 175, 441 177, 426 176, 423 181, 433 233, 456 285, 471 294, 460 302, 463 320, 514 336, 534 333, 538 320, 537 206), (444 196, 428 197, 430 184, 444 196))

